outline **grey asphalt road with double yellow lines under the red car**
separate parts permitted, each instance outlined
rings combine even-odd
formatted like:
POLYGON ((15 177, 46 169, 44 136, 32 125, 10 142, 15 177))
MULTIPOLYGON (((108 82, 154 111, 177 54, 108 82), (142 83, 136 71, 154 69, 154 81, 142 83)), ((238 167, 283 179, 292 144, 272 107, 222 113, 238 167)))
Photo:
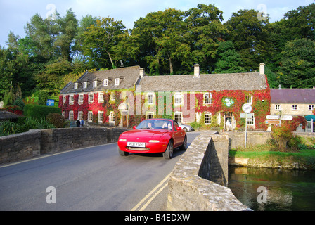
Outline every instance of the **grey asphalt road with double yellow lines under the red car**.
MULTIPOLYGON (((188 145, 198 136, 188 134, 188 145)), ((165 210, 167 178, 183 152, 121 157, 117 143, 0 167, 0 210, 165 210)))

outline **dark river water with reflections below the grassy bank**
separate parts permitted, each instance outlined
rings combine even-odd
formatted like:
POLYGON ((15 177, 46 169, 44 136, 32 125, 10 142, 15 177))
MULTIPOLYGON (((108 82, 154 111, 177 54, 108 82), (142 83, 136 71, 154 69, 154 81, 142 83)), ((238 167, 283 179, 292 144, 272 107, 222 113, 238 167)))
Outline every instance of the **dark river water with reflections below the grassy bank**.
POLYGON ((314 171, 229 167, 228 186, 252 210, 315 210, 314 171), (260 186, 266 187, 266 203, 257 201, 260 186))

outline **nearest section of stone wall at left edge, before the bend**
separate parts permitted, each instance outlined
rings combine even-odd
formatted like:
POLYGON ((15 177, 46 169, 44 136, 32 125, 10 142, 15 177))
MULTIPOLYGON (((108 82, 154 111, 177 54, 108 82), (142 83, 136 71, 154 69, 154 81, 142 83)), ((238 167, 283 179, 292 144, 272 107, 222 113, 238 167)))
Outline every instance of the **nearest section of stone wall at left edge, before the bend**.
POLYGON ((0 137, 0 164, 33 158, 40 151, 40 130, 0 137))

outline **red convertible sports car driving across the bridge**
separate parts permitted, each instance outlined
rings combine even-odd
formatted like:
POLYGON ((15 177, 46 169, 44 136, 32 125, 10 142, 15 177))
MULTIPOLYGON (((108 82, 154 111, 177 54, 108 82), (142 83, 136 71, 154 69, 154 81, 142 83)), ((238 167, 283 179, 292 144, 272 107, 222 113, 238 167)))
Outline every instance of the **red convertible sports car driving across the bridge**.
POLYGON ((118 152, 122 156, 129 153, 163 153, 170 159, 175 148, 186 150, 187 136, 176 120, 143 120, 131 131, 124 131, 118 139, 118 152))

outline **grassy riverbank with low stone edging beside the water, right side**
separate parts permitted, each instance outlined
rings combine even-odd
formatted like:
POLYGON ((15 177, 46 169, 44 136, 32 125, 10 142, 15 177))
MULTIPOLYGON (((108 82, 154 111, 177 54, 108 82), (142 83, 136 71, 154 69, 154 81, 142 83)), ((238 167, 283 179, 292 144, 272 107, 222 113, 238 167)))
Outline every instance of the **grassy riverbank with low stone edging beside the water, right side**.
POLYGON ((249 148, 231 149, 229 150, 229 165, 315 170, 315 149, 312 146, 302 147, 304 148, 279 152, 269 143, 260 146, 250 146, 249 148))

